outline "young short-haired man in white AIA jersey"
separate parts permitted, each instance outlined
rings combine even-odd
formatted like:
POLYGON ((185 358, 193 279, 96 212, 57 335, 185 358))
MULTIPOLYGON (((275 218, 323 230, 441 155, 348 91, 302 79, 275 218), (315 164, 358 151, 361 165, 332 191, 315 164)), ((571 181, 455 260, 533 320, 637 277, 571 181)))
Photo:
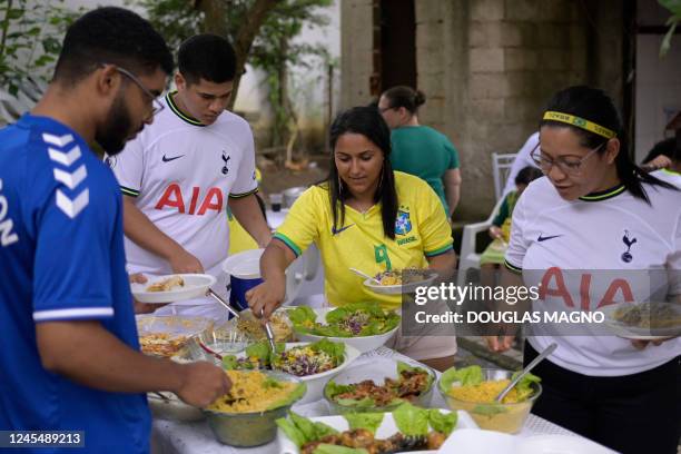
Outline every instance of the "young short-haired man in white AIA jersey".
MULTIPOLYGON (((149 275, 208 273, 218 278, 214 289, 225 296, 220 264, 229 249, 227 203, 260 247, 270 238, 255 197, 253 132, 225 110, 236 72, 226 39, 189 38, 180 46, 178 67, 177 91, 162 100, 166 109, 109 159, 125 195, 128 268, 149 275)), ((210 302, 190 302, 201 303, 210 302)), ((223 314, 211 306, 193 312, 223 314)))

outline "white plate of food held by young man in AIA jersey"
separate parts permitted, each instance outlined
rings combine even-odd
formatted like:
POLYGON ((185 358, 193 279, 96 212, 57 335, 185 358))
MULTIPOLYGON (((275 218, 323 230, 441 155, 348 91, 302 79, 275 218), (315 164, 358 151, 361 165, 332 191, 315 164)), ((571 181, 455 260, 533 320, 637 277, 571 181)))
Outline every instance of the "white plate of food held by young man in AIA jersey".
POLYGON ((130 284, 132 296, 140 303, 148 304, 166 304, 182 302, 206 296, 206 292, 210 286, 215 285, 216 278, 210 275, 203 274, 176 274, 167 276, 147 276, 148 282, 145 284, 130 284), (174 288, 168 292, 147 292, 147 288, 157 282, 167 279, 172 276, 180 276, 185 285, 180 288, 174 288))

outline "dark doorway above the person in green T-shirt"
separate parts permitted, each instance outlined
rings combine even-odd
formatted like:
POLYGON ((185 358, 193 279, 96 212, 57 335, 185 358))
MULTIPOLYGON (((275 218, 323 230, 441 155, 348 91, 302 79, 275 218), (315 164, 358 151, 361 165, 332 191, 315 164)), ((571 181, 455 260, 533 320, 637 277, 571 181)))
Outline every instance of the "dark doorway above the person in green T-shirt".
POLYGON ((379 11, 375 12, 379 16, 381 30, 374 49, 378 53, 374 66, 378 66, 375 73, 379 75, 379 87, 372 95, 381 95, 397 85, 417 88, 414 0, 379 0, 379 11))

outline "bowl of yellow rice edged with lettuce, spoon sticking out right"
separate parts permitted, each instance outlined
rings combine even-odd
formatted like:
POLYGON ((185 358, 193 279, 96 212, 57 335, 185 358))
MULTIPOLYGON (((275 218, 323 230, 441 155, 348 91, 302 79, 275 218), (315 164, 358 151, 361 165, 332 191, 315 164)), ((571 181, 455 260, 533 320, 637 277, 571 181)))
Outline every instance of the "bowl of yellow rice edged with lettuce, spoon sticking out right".
POLYGON ((445 371, 438 389, 453 411, 467 412, 481 428, 514 434, 521 431, 532 405, 542 394, 540 378, 527 374, 501 403, 494 399, 513 379, 514 373, 470 366, 445 371))

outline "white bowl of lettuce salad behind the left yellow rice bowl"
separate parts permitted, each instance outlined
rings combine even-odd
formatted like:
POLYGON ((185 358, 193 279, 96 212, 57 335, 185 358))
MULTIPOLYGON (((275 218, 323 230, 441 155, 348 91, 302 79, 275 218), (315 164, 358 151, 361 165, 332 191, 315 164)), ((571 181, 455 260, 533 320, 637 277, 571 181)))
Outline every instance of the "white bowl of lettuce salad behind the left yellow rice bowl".
POLYGON ((244 352, 223 357, 228 371, 276 371, 295 375, 307 385, 299 404, 322 398, 326 383, 359 356, 359 352, 343 343, 322 339, 315 343, 279 343, 276 352, 267 342, 248 346, 244 352))

